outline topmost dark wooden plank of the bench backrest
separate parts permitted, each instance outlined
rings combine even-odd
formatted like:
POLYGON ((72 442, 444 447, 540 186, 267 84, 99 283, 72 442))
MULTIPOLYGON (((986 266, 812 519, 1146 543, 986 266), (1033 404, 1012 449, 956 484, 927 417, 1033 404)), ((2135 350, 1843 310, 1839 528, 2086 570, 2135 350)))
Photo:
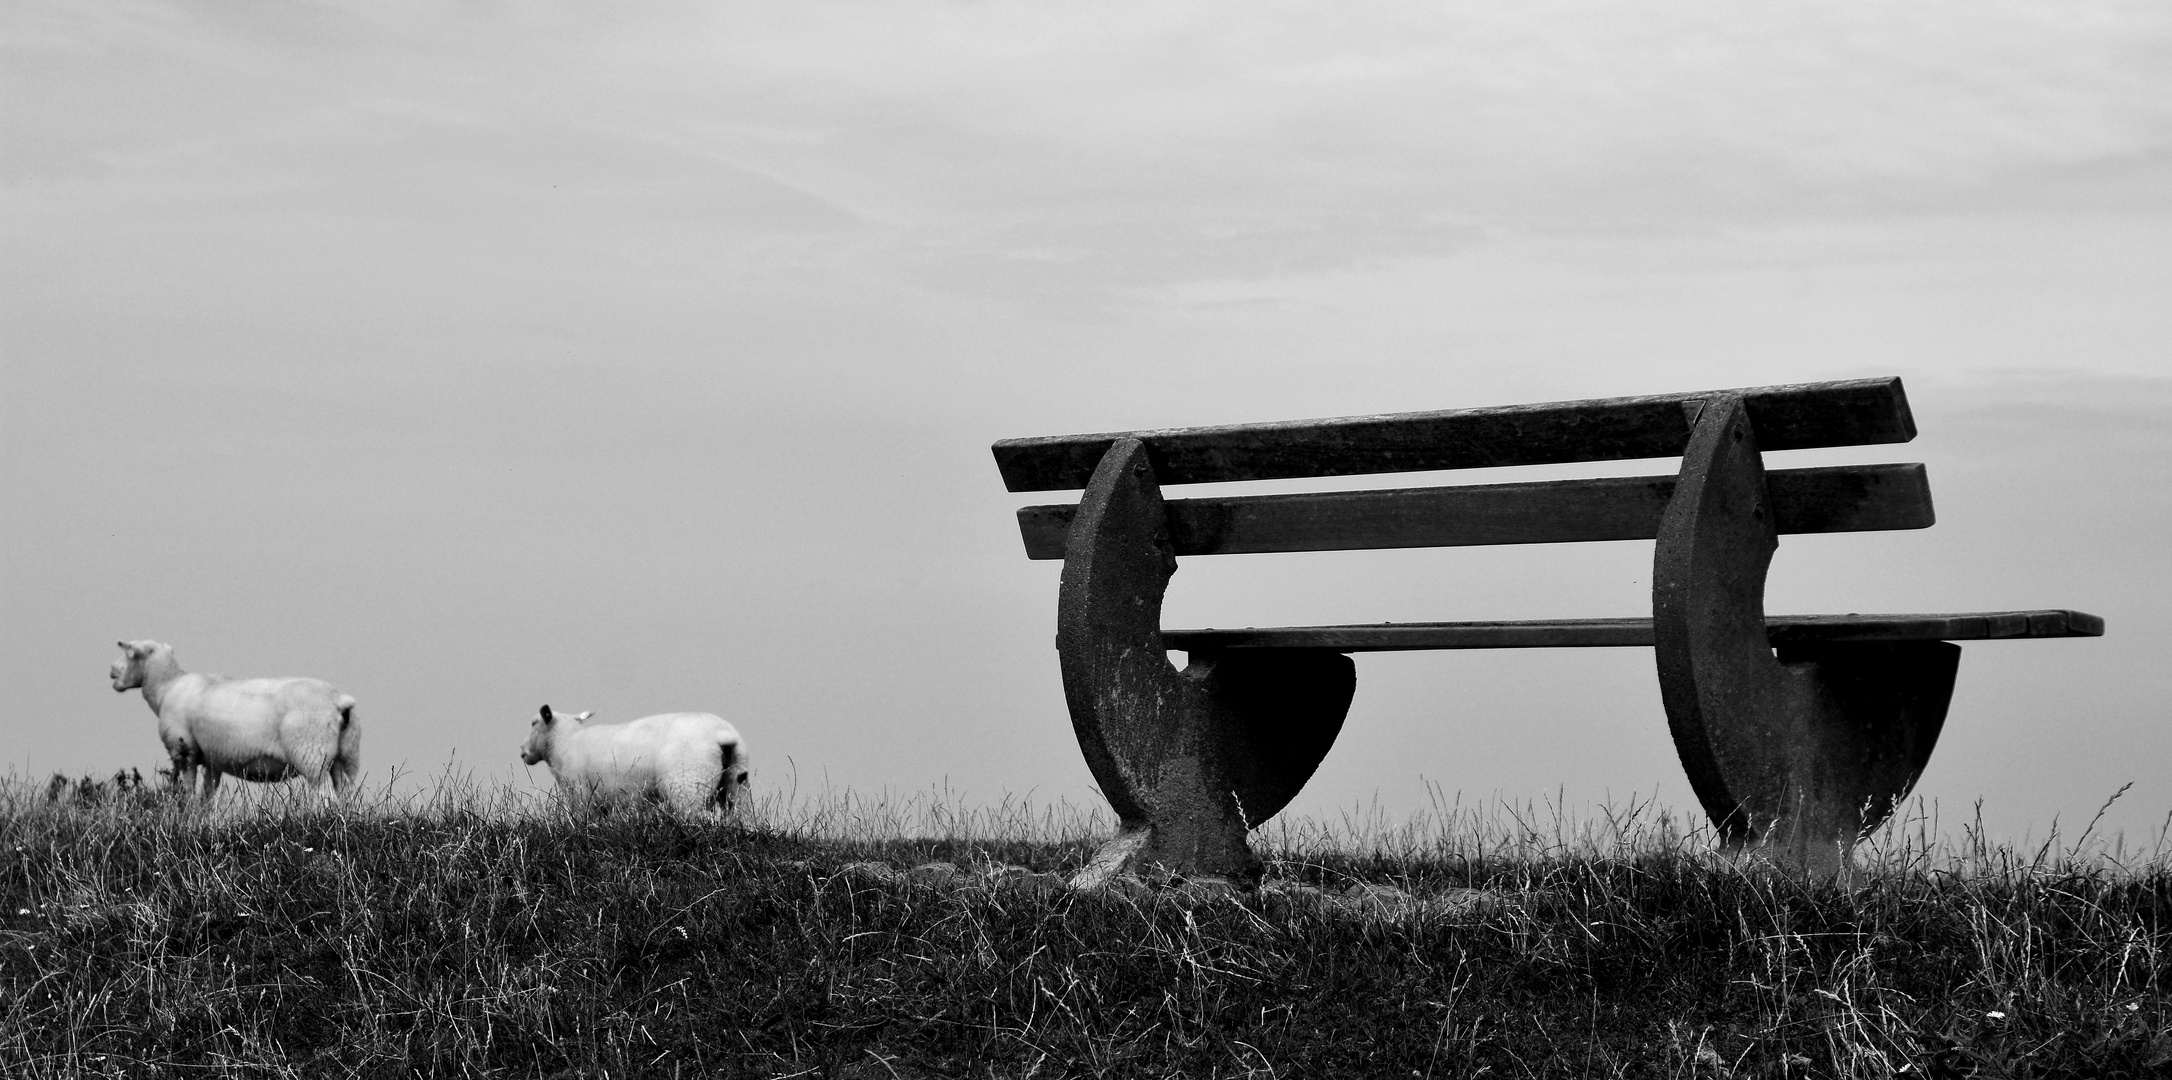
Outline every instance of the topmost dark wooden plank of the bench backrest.
POLYGON ((1651 398, 1003 439, 993 450, 1010 491, 1082 489, 1101 454, 1125 437, 1147 443, 1153 472, 1164 487, 1653 459, 1681 454, 1690 439, 1694 402, 1720 393, 1744 395, 1764 450, 1905 443, 1916 437, 1901 380, 1859 378, 1651 398))

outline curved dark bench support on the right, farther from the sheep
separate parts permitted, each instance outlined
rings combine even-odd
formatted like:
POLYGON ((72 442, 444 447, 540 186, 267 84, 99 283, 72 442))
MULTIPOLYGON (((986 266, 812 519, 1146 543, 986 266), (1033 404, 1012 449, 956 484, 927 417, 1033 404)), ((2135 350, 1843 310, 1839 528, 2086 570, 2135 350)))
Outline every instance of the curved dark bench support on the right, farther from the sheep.
POLYGON ((1770 506, 1742 398, 1703 402, 1653 561, 1659 693, 1725 843, 1831 874, 1922 774, 1961 648, 1818 643, 1775 656, 1770 506))

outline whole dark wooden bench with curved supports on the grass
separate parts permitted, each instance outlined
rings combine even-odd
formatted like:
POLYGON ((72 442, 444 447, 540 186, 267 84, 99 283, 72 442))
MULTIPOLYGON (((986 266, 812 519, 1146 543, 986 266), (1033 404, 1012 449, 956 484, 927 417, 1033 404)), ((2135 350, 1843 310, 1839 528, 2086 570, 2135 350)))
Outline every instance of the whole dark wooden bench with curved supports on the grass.
POLYGON ((1764 450, 1916 437, 1898 378, 1501 409, 1003 439, 1030 558, 1062 558, 1071 724, 1123 834, 1106 858, 1249 880, 1245 834, 1342 730, 1349 654, 1651 648, 1675 750, 1725 845, 1807 869, 1903 800, 1955 641, 2096 637, 2079 611, 1764 613, 1783 532, 1931 526, 1922 465, 1766 469, 1764 450), (1672 476, 1164 500, 1166 485, 1681 456, 1672 476), (1164 630, 1177 556, 1655 539, 1651 617, 1164 630), (1177 671, 1169 650, 1188 654, 1177 671), (1116 854, 1110 854, 1116 852, 1116 854))

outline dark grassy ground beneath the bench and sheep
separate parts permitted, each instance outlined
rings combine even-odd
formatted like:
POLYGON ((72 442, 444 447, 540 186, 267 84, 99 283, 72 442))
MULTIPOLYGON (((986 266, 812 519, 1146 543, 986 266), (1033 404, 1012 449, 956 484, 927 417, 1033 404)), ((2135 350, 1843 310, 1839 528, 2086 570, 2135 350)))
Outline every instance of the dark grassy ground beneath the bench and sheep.
POLYGON ((1273 821, 1253 895, 1075 893, 1064 806, 89 791, 0 787, 0 1076, 2172 1073, 2161 839, 1918 813, 1835 884, 1447 804, 1273 821))

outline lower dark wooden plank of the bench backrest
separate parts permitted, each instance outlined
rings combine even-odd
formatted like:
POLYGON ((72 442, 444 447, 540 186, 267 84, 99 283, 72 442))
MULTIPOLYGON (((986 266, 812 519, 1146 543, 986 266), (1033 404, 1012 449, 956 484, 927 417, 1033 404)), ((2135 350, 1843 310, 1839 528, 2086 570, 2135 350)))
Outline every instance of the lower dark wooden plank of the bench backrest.
MULTIPOLYGON (((1922 465, 1831 465, 1768 476, 1781 532, 1868 532, 1933 522, 1922 465)), ((1169 500, 1166 506, 1169 537, 1186 556, 1653 539, 1672 493, 1672 476, 1609 476, 1169 500)), ((1075 513, 1069 504, 1021 508, 1027 558, 1062 558, 1075 513)))

